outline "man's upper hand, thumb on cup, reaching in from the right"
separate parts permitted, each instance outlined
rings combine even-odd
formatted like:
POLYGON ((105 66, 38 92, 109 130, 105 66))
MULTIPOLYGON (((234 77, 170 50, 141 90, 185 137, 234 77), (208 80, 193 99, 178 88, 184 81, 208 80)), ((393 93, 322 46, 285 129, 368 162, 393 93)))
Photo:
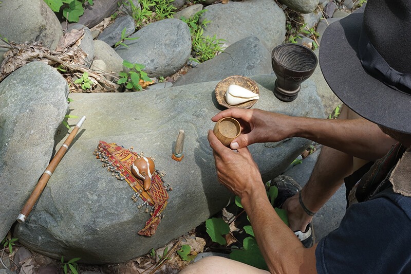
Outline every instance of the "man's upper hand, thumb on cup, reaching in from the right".
POLYGON ((223 117, 236 118, 241 124, 242 135, 231 142, 232 149, 246 148, 252 143, 276 142, 292 136, 295 117, 261 111, 232 107, 211 118, 217 122, 223 117))

